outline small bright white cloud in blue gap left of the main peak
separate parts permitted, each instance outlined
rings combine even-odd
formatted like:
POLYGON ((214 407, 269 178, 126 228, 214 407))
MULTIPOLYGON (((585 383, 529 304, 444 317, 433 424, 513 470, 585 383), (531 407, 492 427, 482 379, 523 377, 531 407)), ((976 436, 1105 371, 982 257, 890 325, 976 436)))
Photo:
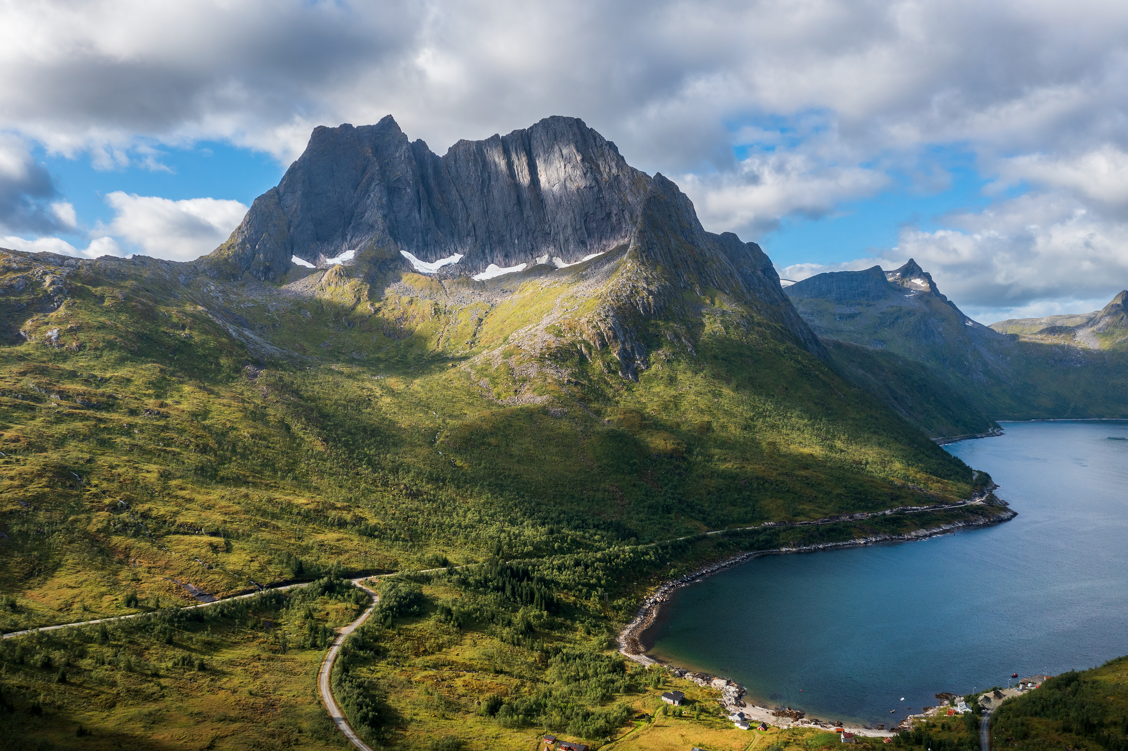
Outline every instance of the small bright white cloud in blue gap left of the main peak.
POLYGON ((238 201, 185 198, 170 201, 116 191, 106 196, 114 220, 97 233, 122 238, 147 256, 192 260, 214 250, 243 221, 247 206, 238 201))

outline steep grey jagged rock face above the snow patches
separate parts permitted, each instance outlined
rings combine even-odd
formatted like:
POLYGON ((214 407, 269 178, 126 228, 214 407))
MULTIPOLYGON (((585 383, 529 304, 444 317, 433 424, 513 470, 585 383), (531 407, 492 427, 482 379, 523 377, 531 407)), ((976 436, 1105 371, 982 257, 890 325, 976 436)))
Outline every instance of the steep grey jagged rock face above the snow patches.
POLYGON ((291 255, 324 264, 368 249, 425 262, 461 254, 458 274, 545 256, 574 263, 628 239, 650 182, 574 117, 459 141, 438 157, 389 115, 316 129, 221 255, 258 279, 284 273, 291 255))

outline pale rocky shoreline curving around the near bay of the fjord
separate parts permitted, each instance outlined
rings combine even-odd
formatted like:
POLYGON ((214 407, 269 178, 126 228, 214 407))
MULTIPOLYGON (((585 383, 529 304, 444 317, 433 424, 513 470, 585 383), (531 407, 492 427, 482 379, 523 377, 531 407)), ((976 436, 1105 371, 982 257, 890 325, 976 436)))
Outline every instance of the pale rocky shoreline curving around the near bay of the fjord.
MULTIPOLYGON (((825 524, 825 523, 836 523, 841 521, 853 521, 867 519, 871 516, 878 516, 883 514, 893 513, 896 511, 924 511, 924 510, 942 510, 942 509, 958 509, 971 504, 982 504, 982 505, 994 505, 986 504, 985 500, 990 496, 990 494, 997 488, 997 485, 992 485, 986 488, 981 495, 972 496, 971 500, 958 504, 936 504, 934 506, 904 506, 900 509, 891 509, 883 512, 874 513, 858 513, 858 514, 844 514, 843 516, 834 516, 829 519, 820 519, 817 521, 809 522, 765 522, 759 527, 773 528, 773 527, 800 527, 808 524, 825 524)), ((618 644, 619 654, 625 656, 632 662, 638 663, 646 668, 651 665, 661 665, 668 668, 675 675, 682 678, 685 680, 690 680, 698 686, 714 688, 721 691, 722 698, 721 704, 724 706, 725 710, 729 713, 742 712, 749 722, 765 722, 779 727, 821 727, 826 730, 838 730, 844 727, 844 725, 835 725, 830 722, 805 719, 804 713, 802 710, 794 710, 791 707, 782 710, 781 714, 775 714, 777 710, 773 710, 769 707, 760 707, 751 705, 749 706, 743 701, 743 696, 746 693, 744 687, 740 683, 732 681, 729 678, 711 677, 706 673, 696 673, 685 668, 673 665, 671 663, 663 662, 659 659, 651 657, 646 654, 653 644, 646 644, 644 640, 645 633, 655 625, 660 616, 662 615, 663 607, 670 601, 670 595, 690 584, 696 584, 707 576, 720 573, 732 568, 733 566, 739 566, 746 564, 755 558, 760 558, 763 556, 770 555, 787 555, 794 553, 817 553, 820 550, 837 550, 854 547, 864 547, 867 545, 881 545, 890 542, 913 542, 918 540, 926 540, 934 537, 940 537, 943 534, 950 534, 957 532, 961 529, 975 529, 979 527, 993 527, 995 524, 1001 524, 1011 521, 1017 516, 1017 512, 1012 509, 1005 507, 1004 504, 1003 513, 993 519, 975 519, 964 520, 959 522, 953 522, 949 524, 941 524, 938 527, 931 527, 926 529, 918 529, 911 532, 906 532, 904 534, 873 534, 870 537, 858 538, 855 540, 844 540, 840 542, 820 542, 816 545, 804 545, 794 547, 775 548, 772 550, 749 550, 746 553, 740 553, 734 556, 730 556, 717 563, 708 564, 702 566, 700 568, 679 576, 677 578, 663 582, 658 586, 654 592, 652 592, 643 602, 640 604, 638 610, 635 612, 635 617, 619 631, 618 644)), ((756 528, 741 528, 741 529, 756 529, 756 528)), ((733 530, 735 531, 735 530, 733 530)), ((906 718, 908 719, 908 718, 906 718)), ((905 721, 902 721, 905 722, 905 721)), ((890 730, 874 730, 869 727, 854 727, 846 726, 849 732, 858 733, 862 735, 870 736, 888 736, 896 733, 896 726, 890 730)))

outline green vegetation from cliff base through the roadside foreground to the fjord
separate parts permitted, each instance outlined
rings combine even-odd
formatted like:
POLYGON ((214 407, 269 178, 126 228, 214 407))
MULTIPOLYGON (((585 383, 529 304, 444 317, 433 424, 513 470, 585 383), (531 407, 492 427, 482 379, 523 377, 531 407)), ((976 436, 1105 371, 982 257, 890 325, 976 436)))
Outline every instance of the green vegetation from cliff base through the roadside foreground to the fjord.
POLYGON ((56 748, 79 724, 95 748, 197 726, 201 748, 223 748, 232 723, 268 728, 261 748, 338 742, 318 735, 312 686, 328 629, 367 601, 341 577, 390 572, 405 573, 380 583, 333 675, 359 732, 400 748, 525 748, 545 727, 598 741, 651 691, 611 636, 664 577, 997 513, 700 536, 954 501, 984 481, 715 289, 636 321, 650 365, 635 381, 592 338, 601 293, 567 274, 500 291, 398 273, 372 286, 338 266, 299 294, 152 259, 0 260, 6 289, 32 280, 0 298, 23 332, 0 346, 0 627, 150 613, 105 637, 5 642, 12 660, 19 645, 52 654, 6 662, 0 687, 9 719, 56 748), (409 573, 430 568, 447 571, 409 573), (184 611, 206 622, 175 610, 318 577, 247 611, 184 611), (90 699, 109 670, 90 661, 123 650, 141 672, 114 663, 90 699), (39 695, 44 714, 28 714, 39 695))

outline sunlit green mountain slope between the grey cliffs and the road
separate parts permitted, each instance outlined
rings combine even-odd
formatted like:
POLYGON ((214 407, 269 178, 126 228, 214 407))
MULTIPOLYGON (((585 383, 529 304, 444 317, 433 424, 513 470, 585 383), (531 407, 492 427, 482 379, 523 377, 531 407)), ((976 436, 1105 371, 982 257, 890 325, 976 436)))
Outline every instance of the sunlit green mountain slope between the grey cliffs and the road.
MULTIPOLYGON (((8 279, 34 272, 23 258, 9 259, 8 279)), ((536 621, 540 640, 600 652, 671 563, 677 572, 778 547, 781 534, 849 539, 873 525, 650 540, 971 489, 961 462, 716 290, 686 297, 690 317, 647 324, 652 366, 634 382, 581 337, 592 295, 570 275, 484 286, 396 274, 373 291, 336 267, 305 280, 312 294, 287 297, 205 276, 184 285, 177 267, 148 263, 71 271, 56 310, 42 286, 5 300, 9 317, 41 307, 23 343, 0 348, 8 630, 190 602, 174 580, 223 595, 334 565, 499 557, 540 562, 570 613, 536 621)), ((906 531, 954 515, 881 524, 906 531)), ((530 603, 503 604, 464 631, 499 640, 530 603)), ((453 660, 465 639, 412 660, 453 660)), ((527 652, 520 660, 535 666, 522 680, 552 682, 537 650, 497 643, 527 652)), ((239 659, 240 644, 217 646, 214 659, 239 659)), ((291 690, 280 681, 275 693, 291 690)), ((373 695, 379 683, 368 683, 373 695)), ((44 706, 62 727, 113 724, 143 704, 111 692, 114 708, 97 716, 62 695, 44 706)), ((634 701, 616 696, 579 701, 592 712, 634 701)), ((388 716, 414 712, 408 699, 388 716)), ((473 709, 459 712, 469 722, 473 709)), ((144 732, 182 722, 164 716, 144 732)), ((441 730, 388 727, 381 737, 408 745, 441 730)), ((506 732, 514 744, 529 734, 527 724, 506 732)))

